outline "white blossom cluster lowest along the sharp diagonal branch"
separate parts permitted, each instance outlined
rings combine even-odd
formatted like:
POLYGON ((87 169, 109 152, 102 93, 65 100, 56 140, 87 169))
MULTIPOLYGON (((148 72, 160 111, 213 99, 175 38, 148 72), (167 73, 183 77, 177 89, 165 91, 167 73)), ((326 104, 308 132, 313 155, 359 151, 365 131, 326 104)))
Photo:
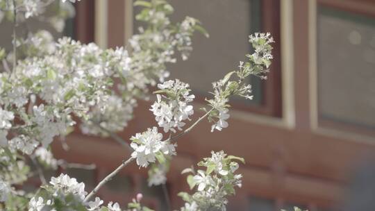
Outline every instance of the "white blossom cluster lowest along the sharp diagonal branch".
POLYGON ((134 149, 131 156, 136 158, 140 167, 147 167, 149 163, 155 162, 156 159, 164 159, 164 155, 175 155, 176 149, 174 144, 163 142, 163 135, 158 133, 158 128, 148 128, 143 133, 137 133, 131 137, 131 147, 134 149))

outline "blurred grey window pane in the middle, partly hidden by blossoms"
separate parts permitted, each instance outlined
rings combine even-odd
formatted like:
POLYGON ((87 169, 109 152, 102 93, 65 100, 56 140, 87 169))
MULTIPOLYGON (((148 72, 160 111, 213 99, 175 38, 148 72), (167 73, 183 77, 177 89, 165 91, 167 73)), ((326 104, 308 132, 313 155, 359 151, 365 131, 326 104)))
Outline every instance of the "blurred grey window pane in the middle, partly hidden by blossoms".
MULTIPOLYGON (((171 0, 174 7, 172 20, 180 22, 185 16, 199 19, 210 37, 197 33, 193 37, 193 51, 187 61, 169 65, 170 78, 179 78, 189 83, 195 93, 208 96, 212 83, 223 78, 228 71, 238 67, 240 60, 246 60, 251 46, 249 34, 260 31, 260 0, 171 0)), ((135 10, 135 13, 139 10, 135 10)), ((137 32, 139 23, 135 22, 137 32)), ((260 105, 261 83, 251 78, 254 90, 253 101, 260 105)))

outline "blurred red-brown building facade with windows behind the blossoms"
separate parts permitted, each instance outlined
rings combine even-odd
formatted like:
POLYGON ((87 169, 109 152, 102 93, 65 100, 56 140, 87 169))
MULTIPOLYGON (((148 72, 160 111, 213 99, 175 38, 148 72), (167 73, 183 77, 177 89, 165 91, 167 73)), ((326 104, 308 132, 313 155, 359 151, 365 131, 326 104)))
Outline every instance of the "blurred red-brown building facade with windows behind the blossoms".
MULTIPOLYGON (((182 203, 176 194, 188 189, 181 170, 223 149, 247 162, 240 167, 243 187, 228 210, 292 210, 294 205, 311 211, 375 210, 375 1, 170 2, 172 19, 196 17, 210 33, 208 39, 194 36, 188 61, 169 66, 172 78, 192 86, 196 108, 211 82, 245 59, 250 33, 270 32, 276 41, 268 80, 251 78, 255 97, 250 102, 234 99, 229 127, 210 133, 204 123, 178 141, 167 182, 173 208, 182 203)), ((138 10, 131 0, 83 0, 75 7, 65 35, 76 40, 121 47, 137 32, 138 10)), ((1 37, 10 37, 6 27, 1 26, 1 37)), ((135 119, 119 135, 128 139, 155 125, 149 105, 140 102, 135 119)), ((95 170, 67 172, 85 180, 88 189, 129 155, 109 138, 78 132, 67 137, 67 144, 69 151, 54 144, 58 158, 97 164, 95 170)), ((147 187, 147 171, 135 164, 99 195, 125 203, 138 192, 144 203, 165 209, 163 190, 147 187)))

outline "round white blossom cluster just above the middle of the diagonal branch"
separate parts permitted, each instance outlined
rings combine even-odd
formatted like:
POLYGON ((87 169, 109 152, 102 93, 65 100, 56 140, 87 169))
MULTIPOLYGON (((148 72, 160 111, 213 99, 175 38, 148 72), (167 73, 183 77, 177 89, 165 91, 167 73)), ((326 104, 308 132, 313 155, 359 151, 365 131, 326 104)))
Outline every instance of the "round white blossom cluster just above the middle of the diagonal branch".
POLYGON ((178 79, 159 84, 158 88, 160 90, 156 91, 157 101, 151 105, 150 110, 165 133, 169 130, 176 133, 175 128, 182 130, 185 126, 183 121, 189 119, 194 113, 193 106, 189 105, 194 95, 189 94, 189 85, 178 79))

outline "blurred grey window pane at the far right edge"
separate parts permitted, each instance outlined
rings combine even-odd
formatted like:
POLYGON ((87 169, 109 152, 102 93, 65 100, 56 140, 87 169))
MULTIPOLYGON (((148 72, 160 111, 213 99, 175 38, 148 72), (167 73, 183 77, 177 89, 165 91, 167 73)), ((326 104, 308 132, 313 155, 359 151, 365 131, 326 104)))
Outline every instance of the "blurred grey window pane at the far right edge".
POLYGON ((319 117, 375 128, 375 19, 319 6, 319 117))

